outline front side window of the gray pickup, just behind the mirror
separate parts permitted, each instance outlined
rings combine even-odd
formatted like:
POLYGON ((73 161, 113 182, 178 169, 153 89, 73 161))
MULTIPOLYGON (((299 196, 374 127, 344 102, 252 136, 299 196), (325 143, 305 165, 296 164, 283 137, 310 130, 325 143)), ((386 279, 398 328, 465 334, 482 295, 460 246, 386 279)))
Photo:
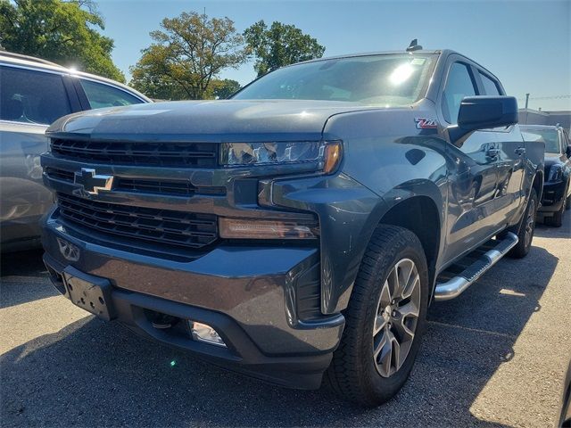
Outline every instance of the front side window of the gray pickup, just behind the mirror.
POLYGON ((468 66, 461 62, 454 62, 448 72, 446 87, 443 96, 443 114, 448 123, 458 121, 460 103, 465 96, 476 95, 474 81, 468 66))

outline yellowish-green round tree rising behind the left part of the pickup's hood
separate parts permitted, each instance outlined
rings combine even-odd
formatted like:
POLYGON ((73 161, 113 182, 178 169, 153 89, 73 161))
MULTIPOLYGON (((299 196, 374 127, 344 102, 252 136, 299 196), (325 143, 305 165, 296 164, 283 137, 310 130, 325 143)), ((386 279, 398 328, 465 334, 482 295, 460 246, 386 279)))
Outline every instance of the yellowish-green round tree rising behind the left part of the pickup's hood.
POLYGON ((153 98, 203 99, 221 70, 237 68, 247 55, 244 37, 227 17, 183 12, 151 32, 154 43, 131 67, 131 86, 153 98))

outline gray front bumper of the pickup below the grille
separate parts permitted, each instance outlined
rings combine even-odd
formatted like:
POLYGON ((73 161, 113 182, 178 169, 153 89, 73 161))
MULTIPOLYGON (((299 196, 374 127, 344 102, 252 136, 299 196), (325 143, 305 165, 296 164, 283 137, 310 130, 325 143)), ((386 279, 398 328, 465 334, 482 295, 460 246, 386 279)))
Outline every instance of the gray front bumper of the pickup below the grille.
POLYGON ((108 278, 121 323, 265 381, 318 388, 343 333, 341 314, 299 317, 300 287, 315 277, 319 284, 315 248, 220 245, 193 261, 159 259, 94 243, 66 228, 57 209, 42 222, 42 241, 54 285, 66 297, 61 275, 68 266, 108 278), (77 261, 64 258, 62 241, 79 249, 77 261), (211 325, 228 348, 154 328, 145 316, 149 311, 211 325))

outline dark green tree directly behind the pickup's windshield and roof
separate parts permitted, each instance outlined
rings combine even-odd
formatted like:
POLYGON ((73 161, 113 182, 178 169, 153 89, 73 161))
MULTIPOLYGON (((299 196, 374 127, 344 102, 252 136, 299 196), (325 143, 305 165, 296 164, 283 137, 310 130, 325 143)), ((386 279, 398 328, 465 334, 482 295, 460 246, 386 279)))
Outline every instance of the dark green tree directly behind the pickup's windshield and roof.
POLYGON ((284 65, 321 58, 325 53, 317 39, 277 21, 269 28, 264 21, 256 22, 244 31, 244 38, 256 59, 253 68, 258 77, 284 65))

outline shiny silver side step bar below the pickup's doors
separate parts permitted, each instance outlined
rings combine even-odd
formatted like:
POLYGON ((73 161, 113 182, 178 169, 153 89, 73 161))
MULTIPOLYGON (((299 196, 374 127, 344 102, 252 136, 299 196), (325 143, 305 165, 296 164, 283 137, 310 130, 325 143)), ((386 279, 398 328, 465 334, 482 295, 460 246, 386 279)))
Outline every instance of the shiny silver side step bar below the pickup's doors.
POLYGON ((508 232, 501 241, 491 241, 491 243, 496 243, 493 248, 484 252, 456 276, 452 276, 442 283, 439 283, 437 279, 434 300, 451 300, 458 297, 461 292, 474 284, 486 270, 492 268, 499 259, 505 256, 517 244, 517 241, 517 235, 508 232))

